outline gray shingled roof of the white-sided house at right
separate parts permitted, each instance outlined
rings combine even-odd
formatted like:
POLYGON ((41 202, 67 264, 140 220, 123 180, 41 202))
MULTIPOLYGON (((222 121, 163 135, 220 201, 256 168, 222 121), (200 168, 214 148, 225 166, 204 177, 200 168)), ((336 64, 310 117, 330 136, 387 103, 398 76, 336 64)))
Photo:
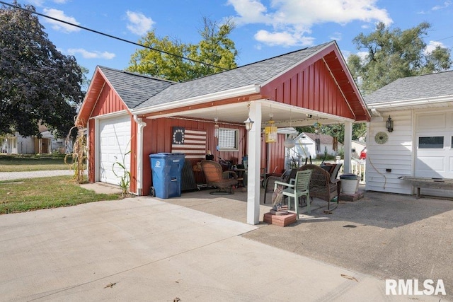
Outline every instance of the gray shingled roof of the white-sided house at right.
POLYGON ((453 71, 398 79, 364 96, 367 105, 453 95, 453 71))

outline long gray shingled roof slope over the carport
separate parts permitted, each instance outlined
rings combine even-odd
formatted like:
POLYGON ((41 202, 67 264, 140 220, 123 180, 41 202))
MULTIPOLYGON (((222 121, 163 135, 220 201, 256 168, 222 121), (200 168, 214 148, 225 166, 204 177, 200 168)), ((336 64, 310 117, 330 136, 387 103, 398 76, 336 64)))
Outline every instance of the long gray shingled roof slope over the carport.
POLYGON ((302 62, 303 59, 318 52, 330 43, 332 42, 296 52, 290 52, 271 59, 265 59, 219 74, 212 74, 200 79, 168 86, 168 88, 161 91, 161 93, 151 96, 149 100, 137 106, 136 109, 147 108, 210 93, 217 93, 233 88, 265 83, 265 81, 273 79, 275 76, 282 73, 282 71, 286 71, 289 67, 294 66, 294 64, 302 62))

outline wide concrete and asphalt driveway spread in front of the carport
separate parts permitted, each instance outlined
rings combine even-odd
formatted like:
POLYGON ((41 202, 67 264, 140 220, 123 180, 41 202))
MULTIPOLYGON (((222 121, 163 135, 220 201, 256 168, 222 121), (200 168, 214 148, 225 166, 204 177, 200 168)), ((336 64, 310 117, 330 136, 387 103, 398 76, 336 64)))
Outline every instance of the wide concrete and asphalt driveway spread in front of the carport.
MULTIPOLYGON (((423 207, 428 199, 411 203, 414 212, 423 209, 422 216, 395 212, 393 216, 382 216, 373 204, 364 207, 368 209, 367 216, 358 216, 351 209, 357 207, 358 211, 360 205, 368 204, 356 202, 340 204, 333 214, 324 218, 316 213, 321 212, 320 207, 311 216, 304 215, 298 223, 281 228, 266 224, 250 226, 210 214, 216 204, 225 216, 237 214, 246 204, 207 195, 207 199, 190 199, 190 194, 166 200, 134 197, 0 216, 0 300, 446 301, 451 298, 386 296, 384 276, 379 275, 394 266, 399 268, 395 272, 401 269, 411 279, 433 279, 448 274, 445 286, 447 294, 452 294, 448 280, 452 279, 449 238, 453 233, 450 222, 453 206, 445 201, 429 203, 426 205, 429 211, 423 207), (397 222, 398 217, 403 219, 397 222), (346 223, 356 228, 344 227, 346 223), (405 227, 411 230, 406 233, 411 237, 398 232, 405 227), (450 235, 443 236, 440 227, 450 235), (432 231, 435 228, 437 232, 432 231), (432 233, 438 235, 425 238, 432 233), (425 248, 427 244, 430 248, 425 248), (439 245, 449 249, 439 250, 439 245), (377 251, 372 256, 364 247, 377 251), (411 250, 420 251, 420 263, 423 263, 422 256, 432 260, 431 266, 422 265, 423 274, 412 265, 417 259, 410 265, 404 264, 407 257, 402 256, 411 250), (326 261, 325 255, 331 255, 331 261, 326 261), (402 257, 399 263, 396 255, 402 257), (369 261, 369 257, 375 261, 369 261), (382 267, 386 262, 389 265, 382 267)), ((406 207, 407 204, 401 204, 401 210, 406 207)), ((391 272, 385 274, 389 278, 398 276, 391 272)))

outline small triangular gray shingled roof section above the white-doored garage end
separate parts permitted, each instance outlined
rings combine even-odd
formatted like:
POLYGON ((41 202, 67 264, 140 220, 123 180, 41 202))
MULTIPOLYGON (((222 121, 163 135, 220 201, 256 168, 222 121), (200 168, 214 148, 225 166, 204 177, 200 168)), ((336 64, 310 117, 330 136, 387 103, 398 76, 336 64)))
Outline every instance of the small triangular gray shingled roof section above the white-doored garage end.
POLYGON ((98 67, 118 95, 120 95, 120 98, 126 103, 127 107, 131 109, 136 108, 152 95, 160 93, 168 86, 176 84, 176 82, 144 76, 142 74, 134 74, 104 66, 98 67))

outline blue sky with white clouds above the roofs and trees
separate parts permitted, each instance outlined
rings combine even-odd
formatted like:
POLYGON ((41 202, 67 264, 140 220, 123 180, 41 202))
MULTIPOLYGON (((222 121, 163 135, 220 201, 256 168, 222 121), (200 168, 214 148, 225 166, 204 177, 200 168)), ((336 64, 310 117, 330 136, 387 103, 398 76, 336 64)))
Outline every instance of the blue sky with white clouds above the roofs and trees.
MULTIPOLYGON (((13 3, 12 0, 4 0, 13 3)), ((239 66, 336 40, 343 57, 357 50, 352 42, 372 33, 378 22, 406 30, 423 21, 431 24, 425 42, 453 47, 453 0, 18 0, 36 11, 108 35, 138 42, 147 31, 158 37, 198 43, 202 18, 236 28, 239 66)), ((139 46, 40 17, 50 41, 88 69, 97 65, 125 69, 139 46)))

